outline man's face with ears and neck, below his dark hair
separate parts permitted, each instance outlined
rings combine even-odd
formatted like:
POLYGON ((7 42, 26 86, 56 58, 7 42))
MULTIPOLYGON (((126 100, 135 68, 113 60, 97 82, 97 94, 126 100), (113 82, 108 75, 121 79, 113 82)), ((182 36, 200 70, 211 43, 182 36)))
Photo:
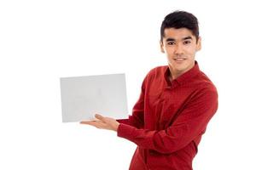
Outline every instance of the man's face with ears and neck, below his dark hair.
POLYGON ((179 76, 195 65, 195 53, 201 49, 201 37, 196 42, 196 37, 187 28, 167 28, 160 48, 167 56, 172 76, 179 76))

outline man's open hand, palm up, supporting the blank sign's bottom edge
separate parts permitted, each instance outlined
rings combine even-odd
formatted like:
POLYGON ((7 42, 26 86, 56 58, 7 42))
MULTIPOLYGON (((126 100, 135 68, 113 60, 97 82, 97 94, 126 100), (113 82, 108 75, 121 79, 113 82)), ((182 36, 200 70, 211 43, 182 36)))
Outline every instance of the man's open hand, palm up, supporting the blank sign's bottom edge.
POLYGON ((82 121, 81 124, 87 124, 93 127, 107 129, 107 130, 113 130, 117 131, 119 127, 119 122, 117 122, 115 119, 111 117, 104 117, 99 114, 95 115, 96 121, 82 121))

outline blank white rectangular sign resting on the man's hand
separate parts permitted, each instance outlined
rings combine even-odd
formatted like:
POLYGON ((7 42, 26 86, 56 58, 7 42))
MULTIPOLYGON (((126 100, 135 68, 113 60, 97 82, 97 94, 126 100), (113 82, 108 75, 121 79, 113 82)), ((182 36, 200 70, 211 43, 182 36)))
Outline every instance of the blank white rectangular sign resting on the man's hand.
POLYGON ((125 74, 61 77, 62 122, 128 117, 125 74))

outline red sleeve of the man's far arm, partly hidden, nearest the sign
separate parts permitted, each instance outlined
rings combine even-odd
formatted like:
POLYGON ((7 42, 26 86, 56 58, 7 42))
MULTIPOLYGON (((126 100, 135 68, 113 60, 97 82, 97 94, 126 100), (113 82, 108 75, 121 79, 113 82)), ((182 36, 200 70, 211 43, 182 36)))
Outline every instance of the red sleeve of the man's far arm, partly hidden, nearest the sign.
POLYGON ((132 115, 128 119, 119 119, 117 122, 130 125, 131 127, 143 128, 144 127, 144 96, 145 96, 145 82, 147 77, 143 80, 141 94, 137 103, 133 106, 132 115))

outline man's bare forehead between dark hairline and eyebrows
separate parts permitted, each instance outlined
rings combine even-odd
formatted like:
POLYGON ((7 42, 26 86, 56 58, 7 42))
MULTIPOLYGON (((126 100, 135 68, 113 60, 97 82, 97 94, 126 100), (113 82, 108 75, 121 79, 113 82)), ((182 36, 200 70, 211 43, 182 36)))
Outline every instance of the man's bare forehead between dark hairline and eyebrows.
POLYGON ((195 39, 195 36, 192 34, 192 31, 190 31, 187 28, 166 28, 165 29, 165 36, 164 39, 172 38, 175 40, 182 40, 184 37, 192 37, 192 39, 195 39))

